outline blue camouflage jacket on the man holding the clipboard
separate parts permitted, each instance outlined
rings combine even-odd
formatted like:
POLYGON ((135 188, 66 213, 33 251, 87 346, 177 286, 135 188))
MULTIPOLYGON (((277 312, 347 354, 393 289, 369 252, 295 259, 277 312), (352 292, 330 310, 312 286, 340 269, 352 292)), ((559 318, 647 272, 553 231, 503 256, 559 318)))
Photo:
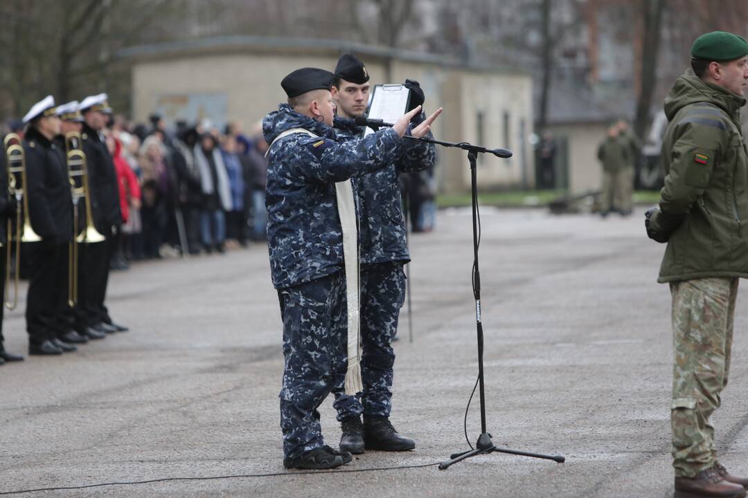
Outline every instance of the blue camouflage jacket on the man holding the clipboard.
MULTIPOLYGON (((414 119, 414 125, 426 119, 424 113, 414 119)), ((342 141, 361 137, 364 128, 353 119, 336 118, 335 133, 342 141)), ((432 134, 429 133, 429 137, 432 134)), ((361 264, 386 261, 410 261, 398 175, 417 172, 433 166, 436 151, 432 143, 403 140, 398 154, 384 169, 354 178, 358 193, 358 234, 361 264)))

